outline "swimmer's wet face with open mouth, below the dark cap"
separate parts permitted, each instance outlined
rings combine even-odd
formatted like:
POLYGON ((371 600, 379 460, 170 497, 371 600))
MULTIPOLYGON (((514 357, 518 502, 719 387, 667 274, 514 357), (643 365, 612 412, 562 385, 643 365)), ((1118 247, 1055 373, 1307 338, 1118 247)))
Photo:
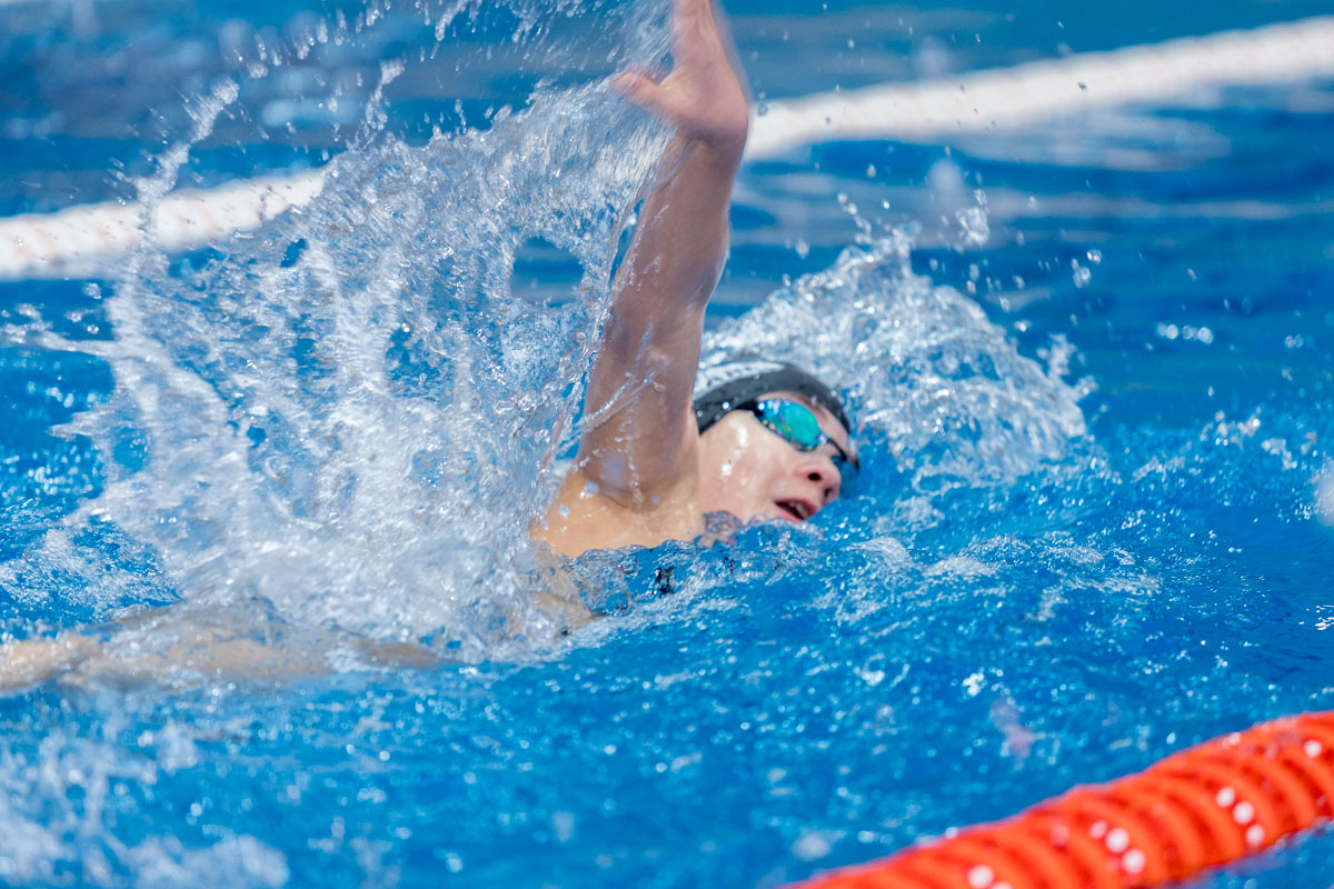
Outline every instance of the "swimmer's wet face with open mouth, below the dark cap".
POLYGON ((700 492, 704 512, 728 512, 743 521, 806 521, 839 496, 835 444, 851 453, 847 431, 832 413, 791 392, 764 397, 804 404, 830 437, 815 450, 798 450, 747 411, 732 411, 700 436, 700 492))

